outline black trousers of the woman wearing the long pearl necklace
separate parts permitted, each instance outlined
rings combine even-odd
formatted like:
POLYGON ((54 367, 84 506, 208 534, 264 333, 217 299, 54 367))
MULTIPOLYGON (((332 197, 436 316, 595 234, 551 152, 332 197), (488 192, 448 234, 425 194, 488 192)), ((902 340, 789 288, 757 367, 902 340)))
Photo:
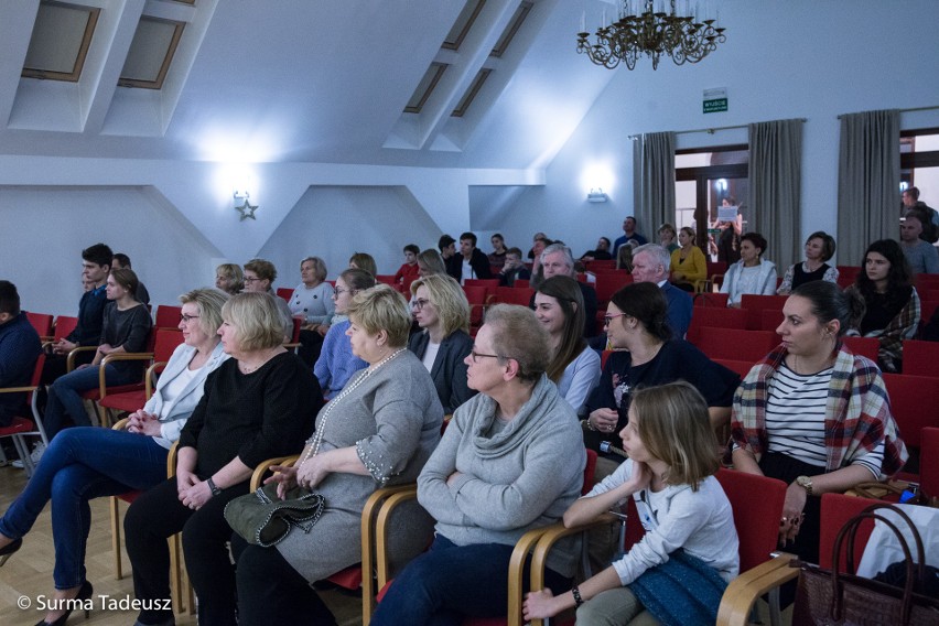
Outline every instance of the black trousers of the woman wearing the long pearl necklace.
POLYGON ((335 626, 333 613, 277 548, 250 546, 240 536, 233 535, 231 553, 237 570, 241 624, 335 626))

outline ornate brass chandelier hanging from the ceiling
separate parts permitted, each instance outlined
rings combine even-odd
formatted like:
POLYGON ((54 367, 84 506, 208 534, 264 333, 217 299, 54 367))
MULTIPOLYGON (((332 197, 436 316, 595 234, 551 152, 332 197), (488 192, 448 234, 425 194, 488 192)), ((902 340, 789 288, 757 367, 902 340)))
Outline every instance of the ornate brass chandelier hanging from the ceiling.
MULTIPOLYGON (((724 43, 727 36, 721 26, 714 25, 716 20, 705 19, 695 21, 693 15, 679 15, 676 12, 674 0, 671 0, 671 13, 665 12, 663 2, 659 2, 656 11, 652 0, 645 1, 645 10, 639 13, 641 0, 635 7, 635 1, 623 0, 619 19, 606 24, 604 12, 603 24, 596 30, 596 43, 590 43, 583 18, 581 32, 578 33, 578 53, 586 54, 592 62, 613 69, 620 62, 634 69, 636 60, 646 55, 652 60, 652 69, 659 65, 659 57, 667 54, 676 65, 698 63, 719 43, 724 43)), ((686 2, 688 9, 688 2, 686 2)), ((688 12, 688 11, 687 11, 688 12)))

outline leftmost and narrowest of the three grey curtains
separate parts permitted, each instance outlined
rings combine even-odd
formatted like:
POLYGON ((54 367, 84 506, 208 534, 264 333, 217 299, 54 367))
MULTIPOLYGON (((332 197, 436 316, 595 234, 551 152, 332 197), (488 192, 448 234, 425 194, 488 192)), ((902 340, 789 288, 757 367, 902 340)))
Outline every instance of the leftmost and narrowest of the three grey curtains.
POLYGON ((650 242, 666 222, 674 224, 674 133, 649 132, 633 142, 633 215, 650 242))

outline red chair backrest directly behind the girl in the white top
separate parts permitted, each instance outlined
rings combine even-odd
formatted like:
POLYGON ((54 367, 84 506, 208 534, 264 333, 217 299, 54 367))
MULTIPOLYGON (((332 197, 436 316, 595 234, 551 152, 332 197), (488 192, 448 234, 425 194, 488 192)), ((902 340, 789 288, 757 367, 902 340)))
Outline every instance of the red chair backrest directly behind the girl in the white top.
POLYGON ((788 485, 776 478, 724 468, 717 471, 716 477, 734 510, 741 572, 745 572, 768 561, 776 550, 788 485))

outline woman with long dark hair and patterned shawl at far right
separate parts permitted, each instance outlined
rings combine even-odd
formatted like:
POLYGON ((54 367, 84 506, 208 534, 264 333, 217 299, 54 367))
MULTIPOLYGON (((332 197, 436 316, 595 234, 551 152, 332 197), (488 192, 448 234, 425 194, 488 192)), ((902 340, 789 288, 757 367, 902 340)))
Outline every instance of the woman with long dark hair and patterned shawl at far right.
POLYGON ((866 311, 852 334, 877 337, 877 365, 884 371, 902 371, 903 341, 919 327, 919 294, 910 284, 909 263, 893 239, 874 241, 864 252, 864 271, 849 289, 864 299, 866 311))

